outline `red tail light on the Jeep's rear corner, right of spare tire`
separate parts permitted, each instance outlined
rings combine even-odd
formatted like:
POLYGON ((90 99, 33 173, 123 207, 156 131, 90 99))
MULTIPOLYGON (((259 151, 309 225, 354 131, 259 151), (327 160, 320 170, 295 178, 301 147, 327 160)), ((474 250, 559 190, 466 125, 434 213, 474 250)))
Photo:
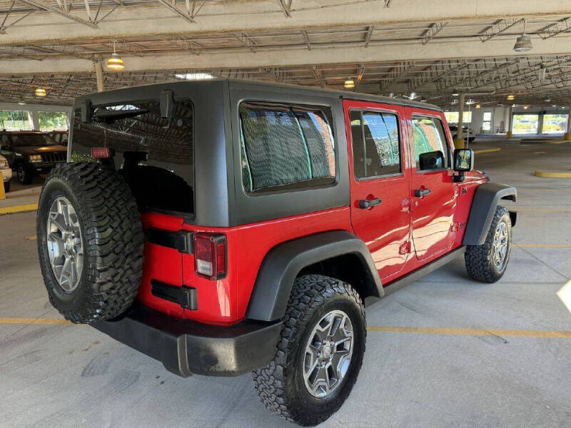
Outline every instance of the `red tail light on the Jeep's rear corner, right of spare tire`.
POLYGON ((196 233, 194 235, 194 267, 198 275, 211 280, 226 276, 226 236, 196 233))

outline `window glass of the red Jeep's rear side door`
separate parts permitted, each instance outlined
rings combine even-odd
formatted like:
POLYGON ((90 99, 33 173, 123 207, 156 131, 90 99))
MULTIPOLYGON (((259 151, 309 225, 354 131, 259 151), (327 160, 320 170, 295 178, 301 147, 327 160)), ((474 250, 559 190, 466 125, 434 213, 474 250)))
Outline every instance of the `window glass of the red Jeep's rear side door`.
POLYGON ((355 178, 400 173, 398 117, 360 110, 351 110, 349 114, 355 178))

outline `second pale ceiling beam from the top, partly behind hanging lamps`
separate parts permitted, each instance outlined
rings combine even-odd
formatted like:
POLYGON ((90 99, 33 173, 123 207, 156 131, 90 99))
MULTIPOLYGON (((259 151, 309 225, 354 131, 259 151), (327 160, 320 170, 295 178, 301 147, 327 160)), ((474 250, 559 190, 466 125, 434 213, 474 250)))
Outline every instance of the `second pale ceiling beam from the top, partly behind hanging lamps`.
MULTIPOLYGON (((262 50, 247 34, 236 34, 243 47, 238 51, 220 54, 201 52, 200 56, 180 51, 153 56, 124 56, 126 71, 183 70, 205 68, 266 68, 313 66, 332 63, 370 63, 382 61, 423 61, 449 59, 517 57, 512 49, 511 39, 495 38, 482 44, 480 40, 440 41, 434 39, 423 46, 418 41, 408 44, 371 43, 368 48, 363 42, 355 42, 337 48, 318 48, 312 45, 303 49, 262 50), (250 49, 246 51, 246 49, 250 49), (444 58, 446 59, 446 58, 444 58)), ((534 46, 534 56, 571 55, 571 36, 561 35, 541 41, 534 46)), ((25 59, 3 59, 0 74, 34 73, 81 73, 91 71, 93 63, 79 58, 46 58, 44 61, 25 59)), ((460 66, 460 64, 458 64, 460 66)))

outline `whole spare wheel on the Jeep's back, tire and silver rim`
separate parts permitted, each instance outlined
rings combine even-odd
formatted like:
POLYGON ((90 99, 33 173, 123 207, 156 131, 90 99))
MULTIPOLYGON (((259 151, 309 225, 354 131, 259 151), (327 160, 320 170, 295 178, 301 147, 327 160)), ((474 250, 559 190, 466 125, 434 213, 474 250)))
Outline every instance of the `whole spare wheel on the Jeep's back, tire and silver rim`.
POLYGON ((36 229, 49 300, 66 320, 109 320, 131 306, 144 238, 119 173, 98 163, 56 165, 41 190, 36 229))

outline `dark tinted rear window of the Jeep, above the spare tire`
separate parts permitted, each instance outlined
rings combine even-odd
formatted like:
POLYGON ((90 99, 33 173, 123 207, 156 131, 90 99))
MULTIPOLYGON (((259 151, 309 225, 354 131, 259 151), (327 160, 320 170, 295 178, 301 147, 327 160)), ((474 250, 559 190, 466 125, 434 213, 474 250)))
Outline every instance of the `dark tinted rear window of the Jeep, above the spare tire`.
POLYGON ((71 161, 99 161, 91 148, 111 148, 101 160, 126 179, 141 209, 193 213, 193 105, 176 101, 172 118, 161 117, 159 101, 94 108, 91 123, 74 113, 71 161))

